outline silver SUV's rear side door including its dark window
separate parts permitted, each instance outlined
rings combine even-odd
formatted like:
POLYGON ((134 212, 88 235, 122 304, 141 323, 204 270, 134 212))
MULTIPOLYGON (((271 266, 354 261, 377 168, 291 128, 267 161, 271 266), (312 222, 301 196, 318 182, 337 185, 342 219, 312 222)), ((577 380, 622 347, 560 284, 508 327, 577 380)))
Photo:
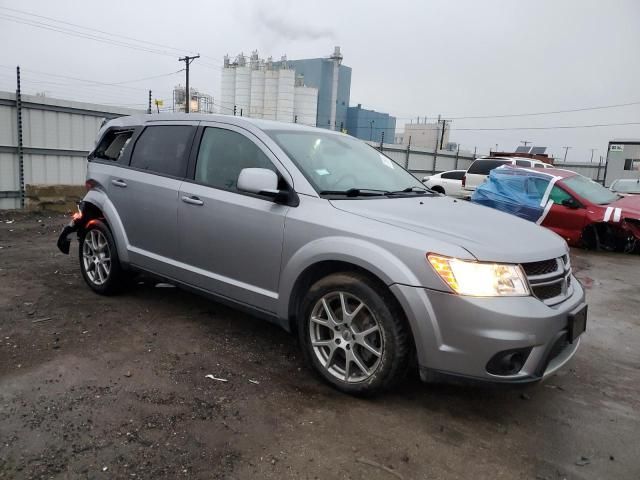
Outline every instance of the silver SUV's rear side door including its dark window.
POLYGON ((187 172, 197 122, 148 125, 134 140, 129 165, 114 170, 113 202, 132 264, 172 276, 177 258, 178 192, 187 172))

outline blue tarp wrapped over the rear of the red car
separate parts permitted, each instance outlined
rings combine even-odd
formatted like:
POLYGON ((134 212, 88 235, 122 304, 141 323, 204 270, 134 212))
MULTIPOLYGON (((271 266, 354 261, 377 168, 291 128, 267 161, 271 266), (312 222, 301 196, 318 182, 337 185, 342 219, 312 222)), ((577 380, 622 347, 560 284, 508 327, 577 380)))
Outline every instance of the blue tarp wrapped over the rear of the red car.
POLYGON ((542 199, 551 176, 511 166, 491 170, 471 201, 537 222, 544 213, 542 199))

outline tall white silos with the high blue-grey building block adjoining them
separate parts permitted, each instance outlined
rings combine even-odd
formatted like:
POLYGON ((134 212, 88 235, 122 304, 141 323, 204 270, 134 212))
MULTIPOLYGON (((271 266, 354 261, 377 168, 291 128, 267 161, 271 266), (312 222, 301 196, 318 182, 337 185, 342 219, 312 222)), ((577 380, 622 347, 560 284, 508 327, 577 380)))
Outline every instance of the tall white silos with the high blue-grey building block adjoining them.
POLYGON ((342 65, 340 48, 329 58, 273 61, 257 52, 247 59, 224 58, 221 113, 246 115, 322 128, 347 122, 351 68, 342 65))

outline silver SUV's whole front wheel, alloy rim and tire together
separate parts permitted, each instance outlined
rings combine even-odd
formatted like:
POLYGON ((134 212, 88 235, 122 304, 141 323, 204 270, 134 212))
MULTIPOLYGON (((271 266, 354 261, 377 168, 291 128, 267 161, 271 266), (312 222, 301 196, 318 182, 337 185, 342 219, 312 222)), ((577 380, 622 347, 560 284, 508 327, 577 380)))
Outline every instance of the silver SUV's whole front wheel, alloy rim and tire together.
POLYGON ((333 386, 371 394, 404 377, 410 342, 402 313, 368 277, 344 273, 320 280, 302 312, 305 356, 333 386))

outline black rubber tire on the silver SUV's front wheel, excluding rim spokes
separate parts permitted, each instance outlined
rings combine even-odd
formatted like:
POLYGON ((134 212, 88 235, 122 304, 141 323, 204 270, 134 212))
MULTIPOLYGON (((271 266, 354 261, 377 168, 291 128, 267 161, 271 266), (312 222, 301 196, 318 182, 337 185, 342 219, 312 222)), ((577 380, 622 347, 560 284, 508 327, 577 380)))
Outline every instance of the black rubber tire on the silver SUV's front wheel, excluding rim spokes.
MULTIPOLYGON (((328 302, 330 303, 331 300, 328 302)), ((349 308, 350 307, 347 307, 346 309, 349 310, 349 308)), ((330 309, 332 309, 331 306, 330 309)), ((355 310, 356 308, 352 309, 350 313, 353 314, 355 310)), ((326 312, 326 310, 323 311, 326 312)), ((339 315, 337 315, 335 311, 333 311, 333 313, 335 318, 338 319, 339 315)), ((344 315, 342 316, 342 320, 344 321, 344 315)), ((337 329, 338 327, 335 327, 336 331, 337 329)), ((344 330, 346 330, 346 328, 344 328, 344 330)), ((326 382, 342 392, 353 395, 373 395, 389 389, 406 375, 411 353, 411 337, 408 332, 404 314, 386 287, 366 275, 354 272, 336 273, 317 281, 305 295, 300 307, 298 313, 298 335, 305 360, 308 364, 311 365, 326 382), (347 344, 350 343, 352 345, 352 355, 359 355, 361 365, 371 367, 371 373, 369 375, 364 374, 363 370, 358 369, 363 376, 366 377, 360 380, 354 378, 352 381, 348 381, 348 376, 346 380, 345 378, 340 379, 336 377, 335 372, 332 373, 330 371, 332 361, 329 360, 327 362, 328 366, 323 365, 319 358, 319 355, 322 354, 317 353, 312 345, 312 329, 314 332, 318 329, 326 329, 325 331, 327 331, 329 335, 333 334, 338 337, 334 338, 334 342, 338 343, 339 340, 342 339, 340 335, 345 334, 344 331, 334 333, 332 329, 326 325, 318 327, 311 320, 312 313, 317 311, 315 309, 321 305, 323 298, 326 299, 331 298, 331 295, 338 295, 340 300, 342 300, 343 297, 340 296, 340 293, 343 293, 348 301, 354 302, 355 305, 357 305, 358 301, 366 305, 366 309, 362 308, 359 310, 362 313, 356 313, 351 325, 353 326, 357 322, 365 321, 369 322, 369 327, 360 329, 360 326, 358 326, 358 328, 350 326, 349 328, 352 328, 351 332, 366 331, 370 329, 370 326, 373 324, 379 327, 375 333, 371 334, 374 336, 373 338, 369 336, 370 340, 365 340, 366 337, 360 339, 368 345, 370 345, 370 341, 376 343, 374 347, 381 349, 381 351, 378 350, 378 353, 381 354, 377 357, 367 352, 361 343, 354 340, 356 335, 353 333, 350 334, 349 332, 347 332, 346 335, 353 335, 349 338, 354 341, 343 340, 342 346, 339 347, 342 350, 336 346, 334 349, 338 353, 331 355, 331 358, 335 358, 334 362, 336 365, 339 362, 338 357, 340 357, 340 355, 345 356, 346 361, 346 355, 348 354, 347 349, 351 351, 349 346, 347 346, 347 344), (360 315, 360 318, 357 320, 358 315, 360 315), (354 342, 358 344, 355 345, 354 342), (367 364, 366 356, 372 360, 370 362, 371 365, 367 364)), ((313 333, 313 335, 317 335, 317 333, 313 333)), ((333 342, 330 343, 333 345, 333 342)), ((316 348, 331 347, 321 346, 316 348)), ((348 364, 349 362, 346 361, 346 363, 348 364)), ((335 365, 333 368, 335 368, 335 365)), ((345 371, 345 375, 349 375, 349 367, 343 370, 345 371)))

